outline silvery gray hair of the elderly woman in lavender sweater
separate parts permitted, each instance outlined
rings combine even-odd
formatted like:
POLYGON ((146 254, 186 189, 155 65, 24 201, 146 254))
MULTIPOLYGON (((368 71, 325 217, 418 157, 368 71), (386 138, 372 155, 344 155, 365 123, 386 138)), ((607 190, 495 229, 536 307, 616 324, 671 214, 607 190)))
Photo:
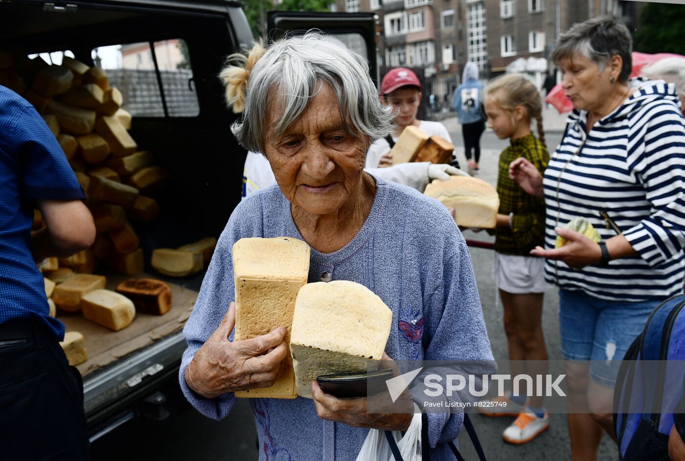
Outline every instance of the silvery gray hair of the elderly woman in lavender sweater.
POLYGON ((242 121, 231 127, 240 145, 264 153, 266 136, 281 136, 301 116, 309 101, 328 84, 338 98, 338 110, 353 136, 369 142, 393 129, 393 108, 382 105, 369 76, 369 63, 360 55, 307 32, 276 42, 252 68, 247 80, 242 121), (279 119, 269 125, 271 104, 279 119))

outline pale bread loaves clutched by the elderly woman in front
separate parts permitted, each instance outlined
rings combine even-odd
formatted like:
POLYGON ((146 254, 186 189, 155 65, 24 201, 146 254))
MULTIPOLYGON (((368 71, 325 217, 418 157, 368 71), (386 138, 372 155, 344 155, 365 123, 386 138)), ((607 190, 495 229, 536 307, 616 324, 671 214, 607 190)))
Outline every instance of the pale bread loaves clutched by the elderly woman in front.
POLYGON ((393 313, 355 282, 308 284, 309 260, 309 245, 292 237, 235 243, 235 339, 285 326, 290 347, 273 386, 236 392, 236 397, 311 399, 310 383, 317 376, 364 372, 369 363, 380 362, 393 313))

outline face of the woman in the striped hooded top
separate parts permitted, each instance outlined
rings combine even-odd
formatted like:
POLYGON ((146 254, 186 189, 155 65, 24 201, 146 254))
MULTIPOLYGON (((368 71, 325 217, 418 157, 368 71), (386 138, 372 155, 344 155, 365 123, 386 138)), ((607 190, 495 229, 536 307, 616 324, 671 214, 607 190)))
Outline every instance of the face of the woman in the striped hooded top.
POLYGON ((591 111, 606 103, 612 90, 611 66, 601 68, 590 58, 576 54, 560 60, 559 67, 564 76, 562 87, 573 108, 591 111))

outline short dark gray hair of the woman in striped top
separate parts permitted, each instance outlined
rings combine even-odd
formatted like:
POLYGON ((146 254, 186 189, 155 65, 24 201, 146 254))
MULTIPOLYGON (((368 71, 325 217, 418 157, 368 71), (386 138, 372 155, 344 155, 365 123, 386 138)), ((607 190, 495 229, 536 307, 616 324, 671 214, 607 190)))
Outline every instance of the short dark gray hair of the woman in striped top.
POLYGON ((557 64, 563 58, 580 54, 603 68, 612 56, 619 55, 623 59, 619 82, 625 83, 630 79, 633 67, 632 51, 633 42, 628 28, 612 16, 598 16, 575 24, 561 34, 551 59, 557 64))

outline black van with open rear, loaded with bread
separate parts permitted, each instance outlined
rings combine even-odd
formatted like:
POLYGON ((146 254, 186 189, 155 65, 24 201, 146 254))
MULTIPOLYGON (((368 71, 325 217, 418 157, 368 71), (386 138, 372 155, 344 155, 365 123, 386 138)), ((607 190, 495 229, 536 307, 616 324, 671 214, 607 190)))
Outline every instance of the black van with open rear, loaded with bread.
MULTIPOLYGON (((268 18, 271 40, 310 28, 334 34, 366 55, 377 82, 373 14, 268 18)), ((68 55, 103 67, 133 115, 129 133, 171 173, 157 197, 158 218, 136 227, 146 271, 160 279, 149 267, 153 249, 218 237, 240 201, 246 152, 229 129, 238 116, 225 105, 218 75, 228 55, 254 42, 241 4, 230 0, 0 0, 0 49, 48 64, 68 55)), ((168 280, 197 291, 202 278, 168 280)), ((140 347, 130 342, 130 351, 112 335, 116 360, 80 369, 91 440, 140 414, 164 417, 164 394, 179 394, 186 347, 180 320, 140 347)))

